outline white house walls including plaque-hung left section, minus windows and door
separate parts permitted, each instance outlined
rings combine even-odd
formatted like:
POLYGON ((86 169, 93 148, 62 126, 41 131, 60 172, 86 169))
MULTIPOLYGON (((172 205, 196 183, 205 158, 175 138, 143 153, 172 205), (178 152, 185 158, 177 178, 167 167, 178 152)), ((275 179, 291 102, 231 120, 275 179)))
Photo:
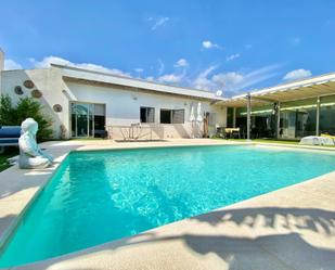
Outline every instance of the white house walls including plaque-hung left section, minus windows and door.
MULTIPOLYGON (((38 100, 43 105, 46 115, 52 117, 55 139, 61 138, 61 125, 66 129, 66 138, 70 136, 69 104, 72 101, 105 104, 107 126, 138 124, 140 123, 141 106, 155 107, 155 125, 142 124, 142 126, 154 126, 152 128, 152 139, 190 138, 199 134, 203 125, 195 127, 195 124, 190 120, 191 107, 194 106, 196 117, 198 103, 201 103, 202 115, 204 112, 215 115, 211 119, 209 133, 215 132, 216 126, 226 126, 226 107, 210 105, 210 102, 204 99, 146 93, 130 89, 125 90, 124 87, 112 87, 109 85, 98 86, 96 83, 67 81, 62 77, 62 69, 55 67, 48 69, 7 70, 1 73, 1 93, 9 94, 14 103, 20 98, 30 97, 30 92, 34 89, 42 92, 42 97, 38 100), (35 87, 33 89, 25 88, 23 86, 25 80, 31 80, 35 87), (17 95, 14 92, 15 86, 22 87, 23 95, 17 95), (55 113, 53 111, 53 105, 55 104, 60 104, 63 111, 55 113), (159 124, 160 108, 184 108, 184 124, 159 124)), ((124 138, 120 128, 114 128, 113 130, 114 139, 124 138)), ((149 137, 141 139, 149 139, 149 137)))

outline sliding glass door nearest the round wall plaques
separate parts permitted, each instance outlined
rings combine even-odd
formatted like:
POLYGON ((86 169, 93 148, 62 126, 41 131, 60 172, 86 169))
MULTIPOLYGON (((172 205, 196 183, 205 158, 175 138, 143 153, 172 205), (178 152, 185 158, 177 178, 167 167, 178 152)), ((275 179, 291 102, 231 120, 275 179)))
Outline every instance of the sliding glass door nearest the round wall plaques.
POLYGON ((101 134, 105 126, 105 105, 73 102, 70 104, 70 127, 73 138, 88 138, 101 134), (95 123, 96 118, 96 123, 95 123))

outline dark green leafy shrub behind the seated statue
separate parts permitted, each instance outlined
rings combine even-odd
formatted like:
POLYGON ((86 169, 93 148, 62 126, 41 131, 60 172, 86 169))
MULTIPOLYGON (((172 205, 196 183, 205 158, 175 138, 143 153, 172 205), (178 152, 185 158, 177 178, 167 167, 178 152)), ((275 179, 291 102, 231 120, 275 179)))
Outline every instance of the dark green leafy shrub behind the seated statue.
POLYGON ((14 107, 9 95, 1 95, 0 125, 20 126, 23 120, 31 117, 38 123, 39 127, 37 140, 41 141, 50 139, 52 136, 52 120, 50 117, 43 115, 42 110, 43 106, 33 98, 20 99, 14 107))

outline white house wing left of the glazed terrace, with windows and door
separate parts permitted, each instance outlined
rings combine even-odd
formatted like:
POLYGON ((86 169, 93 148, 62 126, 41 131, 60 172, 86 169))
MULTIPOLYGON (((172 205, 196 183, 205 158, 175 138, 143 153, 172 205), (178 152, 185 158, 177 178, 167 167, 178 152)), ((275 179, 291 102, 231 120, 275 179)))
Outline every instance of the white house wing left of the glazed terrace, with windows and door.
POLYGON ((54 139, 156 140, 211 136, 226 126, 215 93, 54 65, 1 72, 1 94, 33 97, 52 118, 54 139))

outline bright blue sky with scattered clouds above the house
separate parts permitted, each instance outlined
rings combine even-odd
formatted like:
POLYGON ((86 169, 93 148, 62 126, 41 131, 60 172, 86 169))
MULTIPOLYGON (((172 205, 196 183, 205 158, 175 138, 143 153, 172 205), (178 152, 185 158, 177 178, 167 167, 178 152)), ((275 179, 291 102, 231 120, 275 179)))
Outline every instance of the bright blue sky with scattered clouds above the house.
POLYGON ((335 1, 1 2, 5 67, 65 63, 231 97, 335 72, 335 1))

